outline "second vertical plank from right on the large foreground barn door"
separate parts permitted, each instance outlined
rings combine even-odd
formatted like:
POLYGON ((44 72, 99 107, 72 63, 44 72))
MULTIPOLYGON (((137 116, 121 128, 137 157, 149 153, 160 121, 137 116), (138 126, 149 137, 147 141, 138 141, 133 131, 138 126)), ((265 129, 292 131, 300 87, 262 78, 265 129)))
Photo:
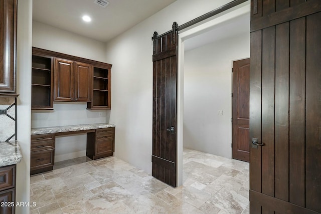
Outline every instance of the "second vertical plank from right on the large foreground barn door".
POLYGON ((290 22, 289 201, 305 205, 305 18, 290 22))

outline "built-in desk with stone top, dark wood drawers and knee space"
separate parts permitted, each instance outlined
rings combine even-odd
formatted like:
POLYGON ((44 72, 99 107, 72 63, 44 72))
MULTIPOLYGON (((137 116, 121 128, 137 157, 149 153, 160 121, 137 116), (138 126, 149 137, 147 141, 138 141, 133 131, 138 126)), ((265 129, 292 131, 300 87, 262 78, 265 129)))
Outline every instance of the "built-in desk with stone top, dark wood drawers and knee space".
POLYGON ((87 133, 86 155, 95 160, 112 156, 115 150, 115 125, 110 123, 55 126, 31 129, 30 174, 53 169, 55 137, 87 133))

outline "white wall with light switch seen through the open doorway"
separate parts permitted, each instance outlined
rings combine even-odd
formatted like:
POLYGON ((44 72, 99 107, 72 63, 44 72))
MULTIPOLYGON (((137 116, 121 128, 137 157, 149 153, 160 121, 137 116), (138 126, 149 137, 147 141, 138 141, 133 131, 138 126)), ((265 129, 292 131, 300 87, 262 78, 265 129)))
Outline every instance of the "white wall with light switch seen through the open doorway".
POLYGON ((231 158, 232 61, 249 56, 249 32, 185 52, 185 148, 231 158))

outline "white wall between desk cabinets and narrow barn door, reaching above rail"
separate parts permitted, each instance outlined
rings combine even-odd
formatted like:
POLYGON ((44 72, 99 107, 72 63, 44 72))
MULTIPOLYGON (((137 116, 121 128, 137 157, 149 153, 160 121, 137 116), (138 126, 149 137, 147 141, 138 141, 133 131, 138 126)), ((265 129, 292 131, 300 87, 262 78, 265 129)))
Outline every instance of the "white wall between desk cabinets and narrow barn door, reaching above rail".
POLYGON ((229 2, 178 0, 107 44, 116 156, 151 172, 153 32, 165 33, 173 22, 182 25, 229 2))

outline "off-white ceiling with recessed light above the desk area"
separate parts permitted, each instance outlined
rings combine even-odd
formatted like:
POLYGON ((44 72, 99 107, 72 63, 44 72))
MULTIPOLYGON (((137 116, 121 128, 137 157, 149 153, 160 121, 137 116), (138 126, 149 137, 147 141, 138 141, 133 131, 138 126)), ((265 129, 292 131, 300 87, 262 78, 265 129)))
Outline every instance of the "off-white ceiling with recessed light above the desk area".
POLYGON ((176 0, 108 0, 106 8, 94 0, 33 0, 33 20, 107 42, 166 8, 176 0), (90 23, 81 17, 88 15, 90 23))

